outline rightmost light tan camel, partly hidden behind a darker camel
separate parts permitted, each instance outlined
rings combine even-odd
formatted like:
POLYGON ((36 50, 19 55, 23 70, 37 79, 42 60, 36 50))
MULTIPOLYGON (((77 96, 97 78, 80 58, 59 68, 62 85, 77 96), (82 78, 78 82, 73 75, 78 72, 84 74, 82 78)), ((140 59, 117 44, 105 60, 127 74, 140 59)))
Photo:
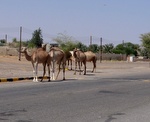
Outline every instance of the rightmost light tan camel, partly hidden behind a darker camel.
POLYGON ((87 62, 91 62, 91 61, 93 62, 92 72, 94 72, 94 70, 96 70, 96 61, 97 61, 96 54, 93 53, 92 51, 84 52, 84 54, 86 55, 86 61, 87 62))

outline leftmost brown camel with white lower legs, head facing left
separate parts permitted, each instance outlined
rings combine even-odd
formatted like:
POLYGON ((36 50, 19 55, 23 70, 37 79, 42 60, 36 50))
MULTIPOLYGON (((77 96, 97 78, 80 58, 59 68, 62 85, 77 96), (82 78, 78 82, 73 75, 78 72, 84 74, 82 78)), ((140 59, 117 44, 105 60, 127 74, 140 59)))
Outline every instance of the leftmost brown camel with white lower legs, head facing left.
MULTIPOLYGON (((38 82, 38 64, 39 63, 43 64, 43 77, 45 75, 45 72, 46 72, 45 67, 46 67, 46 62, 48 59, 48 53, 45 51, 45 49, 46 49, 45 46, 43 46, 43 48, 38 48, 31 55, 28 54, 26 47, 21 49, 21 53, 24 53, 25 58, 28 61, 31 61, 31 63, 32 63, 33 74, 34 74, 33 81, 34 82, 38 82)), ((43 78, 41 79, 41 81, 43 81, 43 78)))

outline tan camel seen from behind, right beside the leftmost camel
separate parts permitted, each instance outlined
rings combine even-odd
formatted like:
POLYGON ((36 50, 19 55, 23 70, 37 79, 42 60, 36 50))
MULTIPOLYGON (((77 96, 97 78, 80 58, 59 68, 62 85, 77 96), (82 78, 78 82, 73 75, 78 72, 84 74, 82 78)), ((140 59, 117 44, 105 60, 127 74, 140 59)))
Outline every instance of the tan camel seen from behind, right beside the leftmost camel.
POLYGON ((58 47, 51 47, 49 51, 48 60, 47 60, 49 81, 50 81, 50 66, 52 66, 52 72, 53 72, 52 78, 53 80, 56 80, 60 73, 61 64, 63 68, 63 80, 65 80, 65 63, 66 63, 66 57, 64 51, 58 47), (58 65, 58 73, 56 75, 56 78, 54 76, 55 64, 58 65))

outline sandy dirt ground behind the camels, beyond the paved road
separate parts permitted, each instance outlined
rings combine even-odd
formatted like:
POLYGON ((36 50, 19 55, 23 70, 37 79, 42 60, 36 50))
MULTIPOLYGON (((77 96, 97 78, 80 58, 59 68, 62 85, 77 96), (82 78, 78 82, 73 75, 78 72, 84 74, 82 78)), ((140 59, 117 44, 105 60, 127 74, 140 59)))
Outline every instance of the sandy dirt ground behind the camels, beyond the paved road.
MULTIPOLYGON (((92 63, 87 63, 87 75, 74 75, 74 71, 66 70, 66 79, 93 79, 93 78, 113 78, 114 76, 138 75, 150 73, 149 62, 127 62, 127 61, 97 61, 96 72, 91 73, 92 63)), ((42 76, 42 64, 39 64, 38 76, 42 76)), ((47 74, 46 74, 47 76, 47 74)), ((33 77, 31 62, 25 57, 18 56, 0 56, 0 78, 22 78, 33 77)), ((60 72, 58 80, 62 79, 60 72)))

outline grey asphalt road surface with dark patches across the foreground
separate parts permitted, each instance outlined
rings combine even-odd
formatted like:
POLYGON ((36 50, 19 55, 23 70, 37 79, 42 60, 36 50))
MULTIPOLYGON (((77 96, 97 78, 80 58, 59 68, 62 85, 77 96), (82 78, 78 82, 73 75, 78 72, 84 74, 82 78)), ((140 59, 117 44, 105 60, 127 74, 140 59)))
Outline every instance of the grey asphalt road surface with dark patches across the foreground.
POLYGON ((0 84, 0 122, 149 122, 150 75, 0 84))

